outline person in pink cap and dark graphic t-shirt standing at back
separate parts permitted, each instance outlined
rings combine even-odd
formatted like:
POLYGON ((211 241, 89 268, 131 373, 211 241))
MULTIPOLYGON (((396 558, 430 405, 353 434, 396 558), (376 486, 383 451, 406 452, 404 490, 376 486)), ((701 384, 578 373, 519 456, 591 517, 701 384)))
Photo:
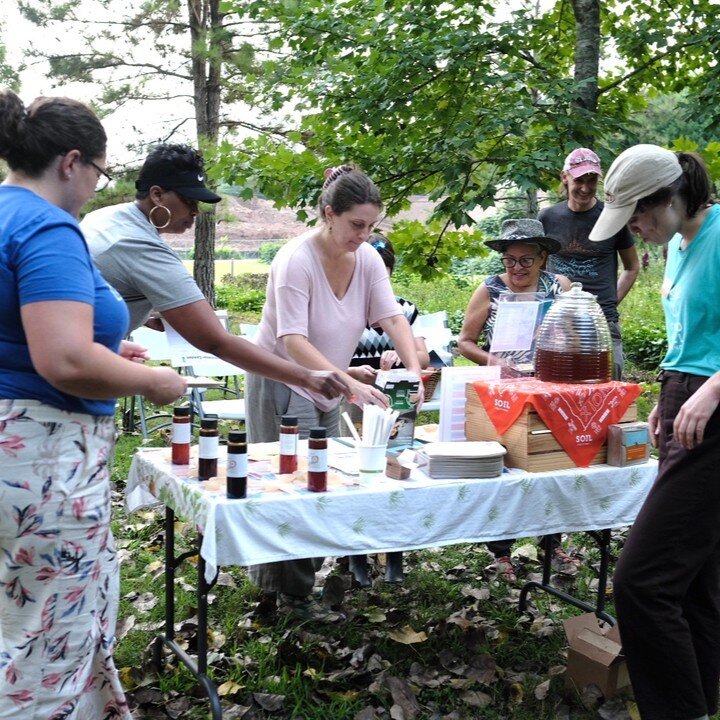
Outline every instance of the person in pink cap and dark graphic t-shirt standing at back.
MULTIPOLYGON (((624 364, 618 305, 635 282, 640 269, 635 241, 623 225, 601 243, 590 242, 590 231, 603 212, 597 198, 602 178, 600 158, 590 148, 575 148, 560 173, 560 195, 567 199, 538 215, 545 234, 557 238, 562 247, 548 257, 548 270, 565 275, 597 296, 613 338, 613 376, 619 380, 624 364), (619 263, 622 272, 618 275, 619 263)), ((606 183, 607 184, 607 183, 606 183)))

